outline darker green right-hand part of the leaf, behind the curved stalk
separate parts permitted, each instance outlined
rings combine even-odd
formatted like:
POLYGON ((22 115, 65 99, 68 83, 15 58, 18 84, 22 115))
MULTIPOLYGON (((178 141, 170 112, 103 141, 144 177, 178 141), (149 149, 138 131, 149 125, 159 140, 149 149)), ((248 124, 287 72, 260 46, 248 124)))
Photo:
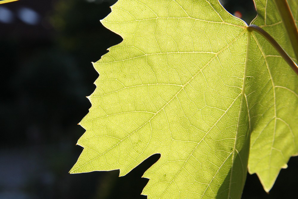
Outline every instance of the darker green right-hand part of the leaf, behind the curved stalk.
MULTIPOLYGON (((298 2, 288 1, 297 20, 298 2)), ((252 24, 262 27, 291 56, 295 57, 287 32, 274 1, 255 0, 257 18, 252 24)), ((251 121, 249 172, 257 173, 268 192, 281 168, 287 168, 298 154, 298 81, 268 41, 252 33, 246 95, 251 121)))

